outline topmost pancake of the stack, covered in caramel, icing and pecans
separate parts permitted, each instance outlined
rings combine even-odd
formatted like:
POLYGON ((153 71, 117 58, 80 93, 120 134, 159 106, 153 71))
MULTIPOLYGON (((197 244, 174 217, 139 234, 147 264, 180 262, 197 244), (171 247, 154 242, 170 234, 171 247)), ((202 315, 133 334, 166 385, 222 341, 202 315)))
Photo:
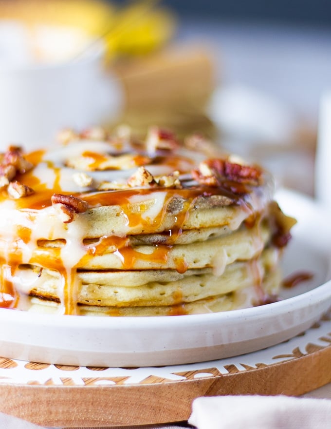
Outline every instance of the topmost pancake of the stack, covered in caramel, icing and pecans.
POLYGON ((173 137, 158 133, 152 135, 158 139, 153 149, 150 136, 146 144, 120 137, 77 138, 24 156, 33 168, 18 172, 15 180, 32 193, 16 198, 2 192, 1 233, 17 234, 14 216, 14 225, 24 225, 35 239, 65 239, 76 230, 82 239, 165 232, 176 238, 178 232, 202 228, 234 231, 243 220, 265 210, 273 186, 259 168, 223 157, 220 171, 212 160, 206 163, 202 153, 175 145, 173 137), (215 177, 216 183, 210 185, 215 177), (60 195, 56 202, 53 194, 60 195), (65 195, 83 200, 87 209, 77 215, 65 195), (66 207, 75 212, 74 222, 61 211, 66 207))

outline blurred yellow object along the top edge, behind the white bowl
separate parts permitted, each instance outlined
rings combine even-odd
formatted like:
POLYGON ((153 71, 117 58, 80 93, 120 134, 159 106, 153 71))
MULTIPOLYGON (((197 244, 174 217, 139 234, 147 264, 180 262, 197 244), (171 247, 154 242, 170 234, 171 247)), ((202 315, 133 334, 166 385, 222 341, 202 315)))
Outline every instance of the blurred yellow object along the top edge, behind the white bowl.
POLYGON ((154 3, 138 1, 119 8, 99 0, 0 0, 0 19, 77 27, 92 38, 106 35, 108 58, 141 55, 165 44, 175 28, 172 13, 154 8, 154 3))

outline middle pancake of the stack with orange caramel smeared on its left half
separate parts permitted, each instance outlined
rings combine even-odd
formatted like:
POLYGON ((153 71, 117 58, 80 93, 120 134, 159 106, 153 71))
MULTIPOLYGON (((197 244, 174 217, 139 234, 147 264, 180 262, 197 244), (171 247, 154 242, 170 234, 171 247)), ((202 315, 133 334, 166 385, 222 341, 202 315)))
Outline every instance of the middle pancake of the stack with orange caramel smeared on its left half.
MULTIPOLYGON (((98 243, 86 247, 86 255, 76 264, 82 270, 161 270, 173 269, 180 271, 181 265, 186 269, 210 267, 218 264, 230 264, 236 260, 251 259, 260 254, 265 243, 270 239, 270 231, 266 226, 241 229, 205 241, 176 245, 138 245, 132 246, 126 238, 103 236, 98 243)), ((42 254, 43 259, 50 260, 52 265, 59 250, 63 252, 66 245, 58 247, 37 247, 31 252, 30 261, 37 261, 42 254)), ((47 262, 45 262, 46 264, 47 262)))

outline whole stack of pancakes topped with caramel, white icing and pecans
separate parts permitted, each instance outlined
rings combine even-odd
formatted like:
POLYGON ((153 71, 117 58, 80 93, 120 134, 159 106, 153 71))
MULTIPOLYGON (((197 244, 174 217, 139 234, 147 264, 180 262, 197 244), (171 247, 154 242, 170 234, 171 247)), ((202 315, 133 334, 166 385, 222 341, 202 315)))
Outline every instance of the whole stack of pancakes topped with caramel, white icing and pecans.
POLYGON ((61 139, 0 155, 0 307, 182 315, 277 295, 295 221, 260 167, 156 127, 61 139))

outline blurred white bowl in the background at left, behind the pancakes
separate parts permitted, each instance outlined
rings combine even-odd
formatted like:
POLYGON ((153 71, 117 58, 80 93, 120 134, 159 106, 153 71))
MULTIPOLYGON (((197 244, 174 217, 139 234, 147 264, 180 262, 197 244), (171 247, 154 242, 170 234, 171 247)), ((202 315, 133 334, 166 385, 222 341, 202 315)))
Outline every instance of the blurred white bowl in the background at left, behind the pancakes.
POLYGON ((39 43, 41 57, 34 58, 20 40, 24 32, 19 34, 19 27, 16 33, 13 27, 8 28, 6 41, 2 27, 0 43, 0 151, 9 144, 22 145, 27 150, 47 146, 61 128, 100 124, 120 111, 121 89, 103 69, 102 41, 92 43, 83 55, 77 56, 84 44, 89 46, 93 41, 84 39, 84 44, 77 44, 76 33, 71 33, 72 38, 67 33, 64 39, 63 31, 56 37, 54 29, 45 38, 44 27, 39 29, 39 35, 43 35, 44 44, 48 40, 44 45, 47 55, 40 54, 39 43), (60 59, 59 46, 65 40, 65 56, 60 59), (7 52, 5 45, 9 47, 7 52), (11 52, 14 48, 19 52, 17 56, 11 52))

